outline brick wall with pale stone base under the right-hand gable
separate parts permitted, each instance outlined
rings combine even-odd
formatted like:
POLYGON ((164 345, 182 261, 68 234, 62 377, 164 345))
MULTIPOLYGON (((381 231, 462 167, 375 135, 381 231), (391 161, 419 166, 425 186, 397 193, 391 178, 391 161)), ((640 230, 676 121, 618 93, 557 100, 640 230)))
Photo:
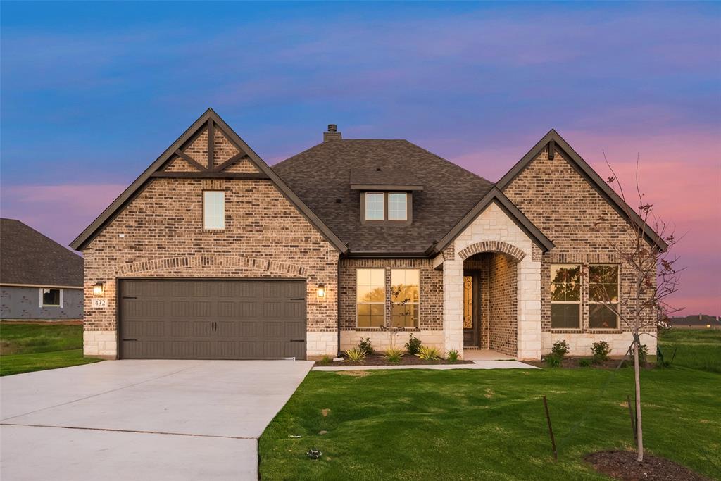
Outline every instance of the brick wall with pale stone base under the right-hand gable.
MULTIPOLYGON (((613 242, 624 249, 632 245, 633 231, 627 221, 572 167, 561 151, 557 151, 551 160, 548 149, 544 149, 503 193, 555 244, 541 260, 544 353, 551 350, 555 340, 563 339, 570 344, 573 355, 590 354, 590 343, 597 340, 606 340, 613 345, 612 354, 624 354, 631 336, 623 326, 618 330, 590 330, 588 327, 588 275, 582 278, 580 330, 551 329, 550 266, 577 263, 583 265, 583 272, 588 274, 589 263, 619 264, 621 293, 622 296, 629 295, 633 272, 609 245, 613 242), (606 220, 596 225, 601 217, 606 220)), ((655 352, 655 337, 644 335, 641 338, 649 352, 655 352)))

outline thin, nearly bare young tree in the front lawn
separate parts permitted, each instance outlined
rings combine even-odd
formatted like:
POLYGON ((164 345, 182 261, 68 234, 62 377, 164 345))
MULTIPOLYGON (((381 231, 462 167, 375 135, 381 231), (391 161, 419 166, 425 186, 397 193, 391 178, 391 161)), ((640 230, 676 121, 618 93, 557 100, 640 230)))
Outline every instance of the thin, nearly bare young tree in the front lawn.
MULTIPOLYGON (((602 305, 610 309, 622 326, 632 332, 633 363, 634 363, 634 384, 636 390, 636 430, 637 430, 637 451, 639 462, 643 461, 643 428, 641 417, 641 380, 639 371, 639 351, 641 349, 641 335, 655 337, 658 323, 661 319, 672 312, 680 309, 673 309, 669 306, 667 299, 678 290, 681 269, 676 268, 678 257, 671 255, 671 250, 677 239, 673 235, 673 229, 669 224, 655 216, 653 204, 645 200, 639 185, 639 163, 636 159, 635 193, 632 202, 637 208, 630 207, 631 202, 627 198, 622 183, 619 181, 613 167, 606 159, 611 170, 612 177, 606 182, 615 187, 616 193, 623 200, 622 208, 626 211, 627 217, 632 219, 631 228, 624 229, 627 239, 619 239, 616 236, 611 238, 603 226, 609 224, 609 219, 601 216, 596 222, 601 236, 604 237, 624 267, 624 278, 627 281, 627 288, 622 291, 619 286, 618 293, 609 293, 603 283, 595 284, 596 296, 603 299, 602 305), (658 242, 660 239, 661 242, 658 242), (615 294, 615 296, 614 296, 615 294), (615 299, 614 299, 615 297, 615 299)), ((614 232, 616 234, 616 232, 614 232)), ((589 293, 592 294, 592 293, 589 293)))

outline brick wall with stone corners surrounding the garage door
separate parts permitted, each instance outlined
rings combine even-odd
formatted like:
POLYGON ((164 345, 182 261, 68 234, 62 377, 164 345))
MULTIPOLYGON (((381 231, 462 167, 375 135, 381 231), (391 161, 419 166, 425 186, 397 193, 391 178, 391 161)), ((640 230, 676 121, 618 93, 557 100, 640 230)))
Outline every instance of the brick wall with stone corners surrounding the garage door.
MULTIPOLYGON (((218 143, 224 137, 216 141, 223 151, 218 143)), ((193 156, 200 161, 203 142, 193 146, 198 142, 193 156)), ((133 277, 306 278, 307 354, 336 353, 339 253, 270 180, 156 178, 83 253, 88 356, 117 355, 117 280, 133 277), (208 189, 226 193, 224 230, 203 229, 208 189), (104 309, 91 305, 98 281, 105 283, 104 309), (323 299, 316 294, 318 283, 326 285, 323 299)))

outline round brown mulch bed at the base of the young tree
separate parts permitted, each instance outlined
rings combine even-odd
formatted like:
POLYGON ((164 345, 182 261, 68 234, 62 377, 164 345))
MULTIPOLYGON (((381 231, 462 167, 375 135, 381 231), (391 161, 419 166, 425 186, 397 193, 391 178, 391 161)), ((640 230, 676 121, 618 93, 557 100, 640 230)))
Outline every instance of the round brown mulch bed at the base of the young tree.
POLYGON ((709 481, 687 467, 668 459, 644 454, 643 461, 636 461, 633 451, 599 451, 584 458, 604 475, 624 481, 709 481))

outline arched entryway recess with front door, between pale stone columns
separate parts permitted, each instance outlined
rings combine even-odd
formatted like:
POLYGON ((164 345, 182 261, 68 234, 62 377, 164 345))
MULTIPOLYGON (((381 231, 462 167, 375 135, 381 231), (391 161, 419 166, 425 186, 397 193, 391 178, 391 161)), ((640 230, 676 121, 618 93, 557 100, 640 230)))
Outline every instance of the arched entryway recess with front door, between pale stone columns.
POLYGON ((518 263, 525 253, 487 241, 459 252, 464 260, 464 348, 518 352, 518 263))

